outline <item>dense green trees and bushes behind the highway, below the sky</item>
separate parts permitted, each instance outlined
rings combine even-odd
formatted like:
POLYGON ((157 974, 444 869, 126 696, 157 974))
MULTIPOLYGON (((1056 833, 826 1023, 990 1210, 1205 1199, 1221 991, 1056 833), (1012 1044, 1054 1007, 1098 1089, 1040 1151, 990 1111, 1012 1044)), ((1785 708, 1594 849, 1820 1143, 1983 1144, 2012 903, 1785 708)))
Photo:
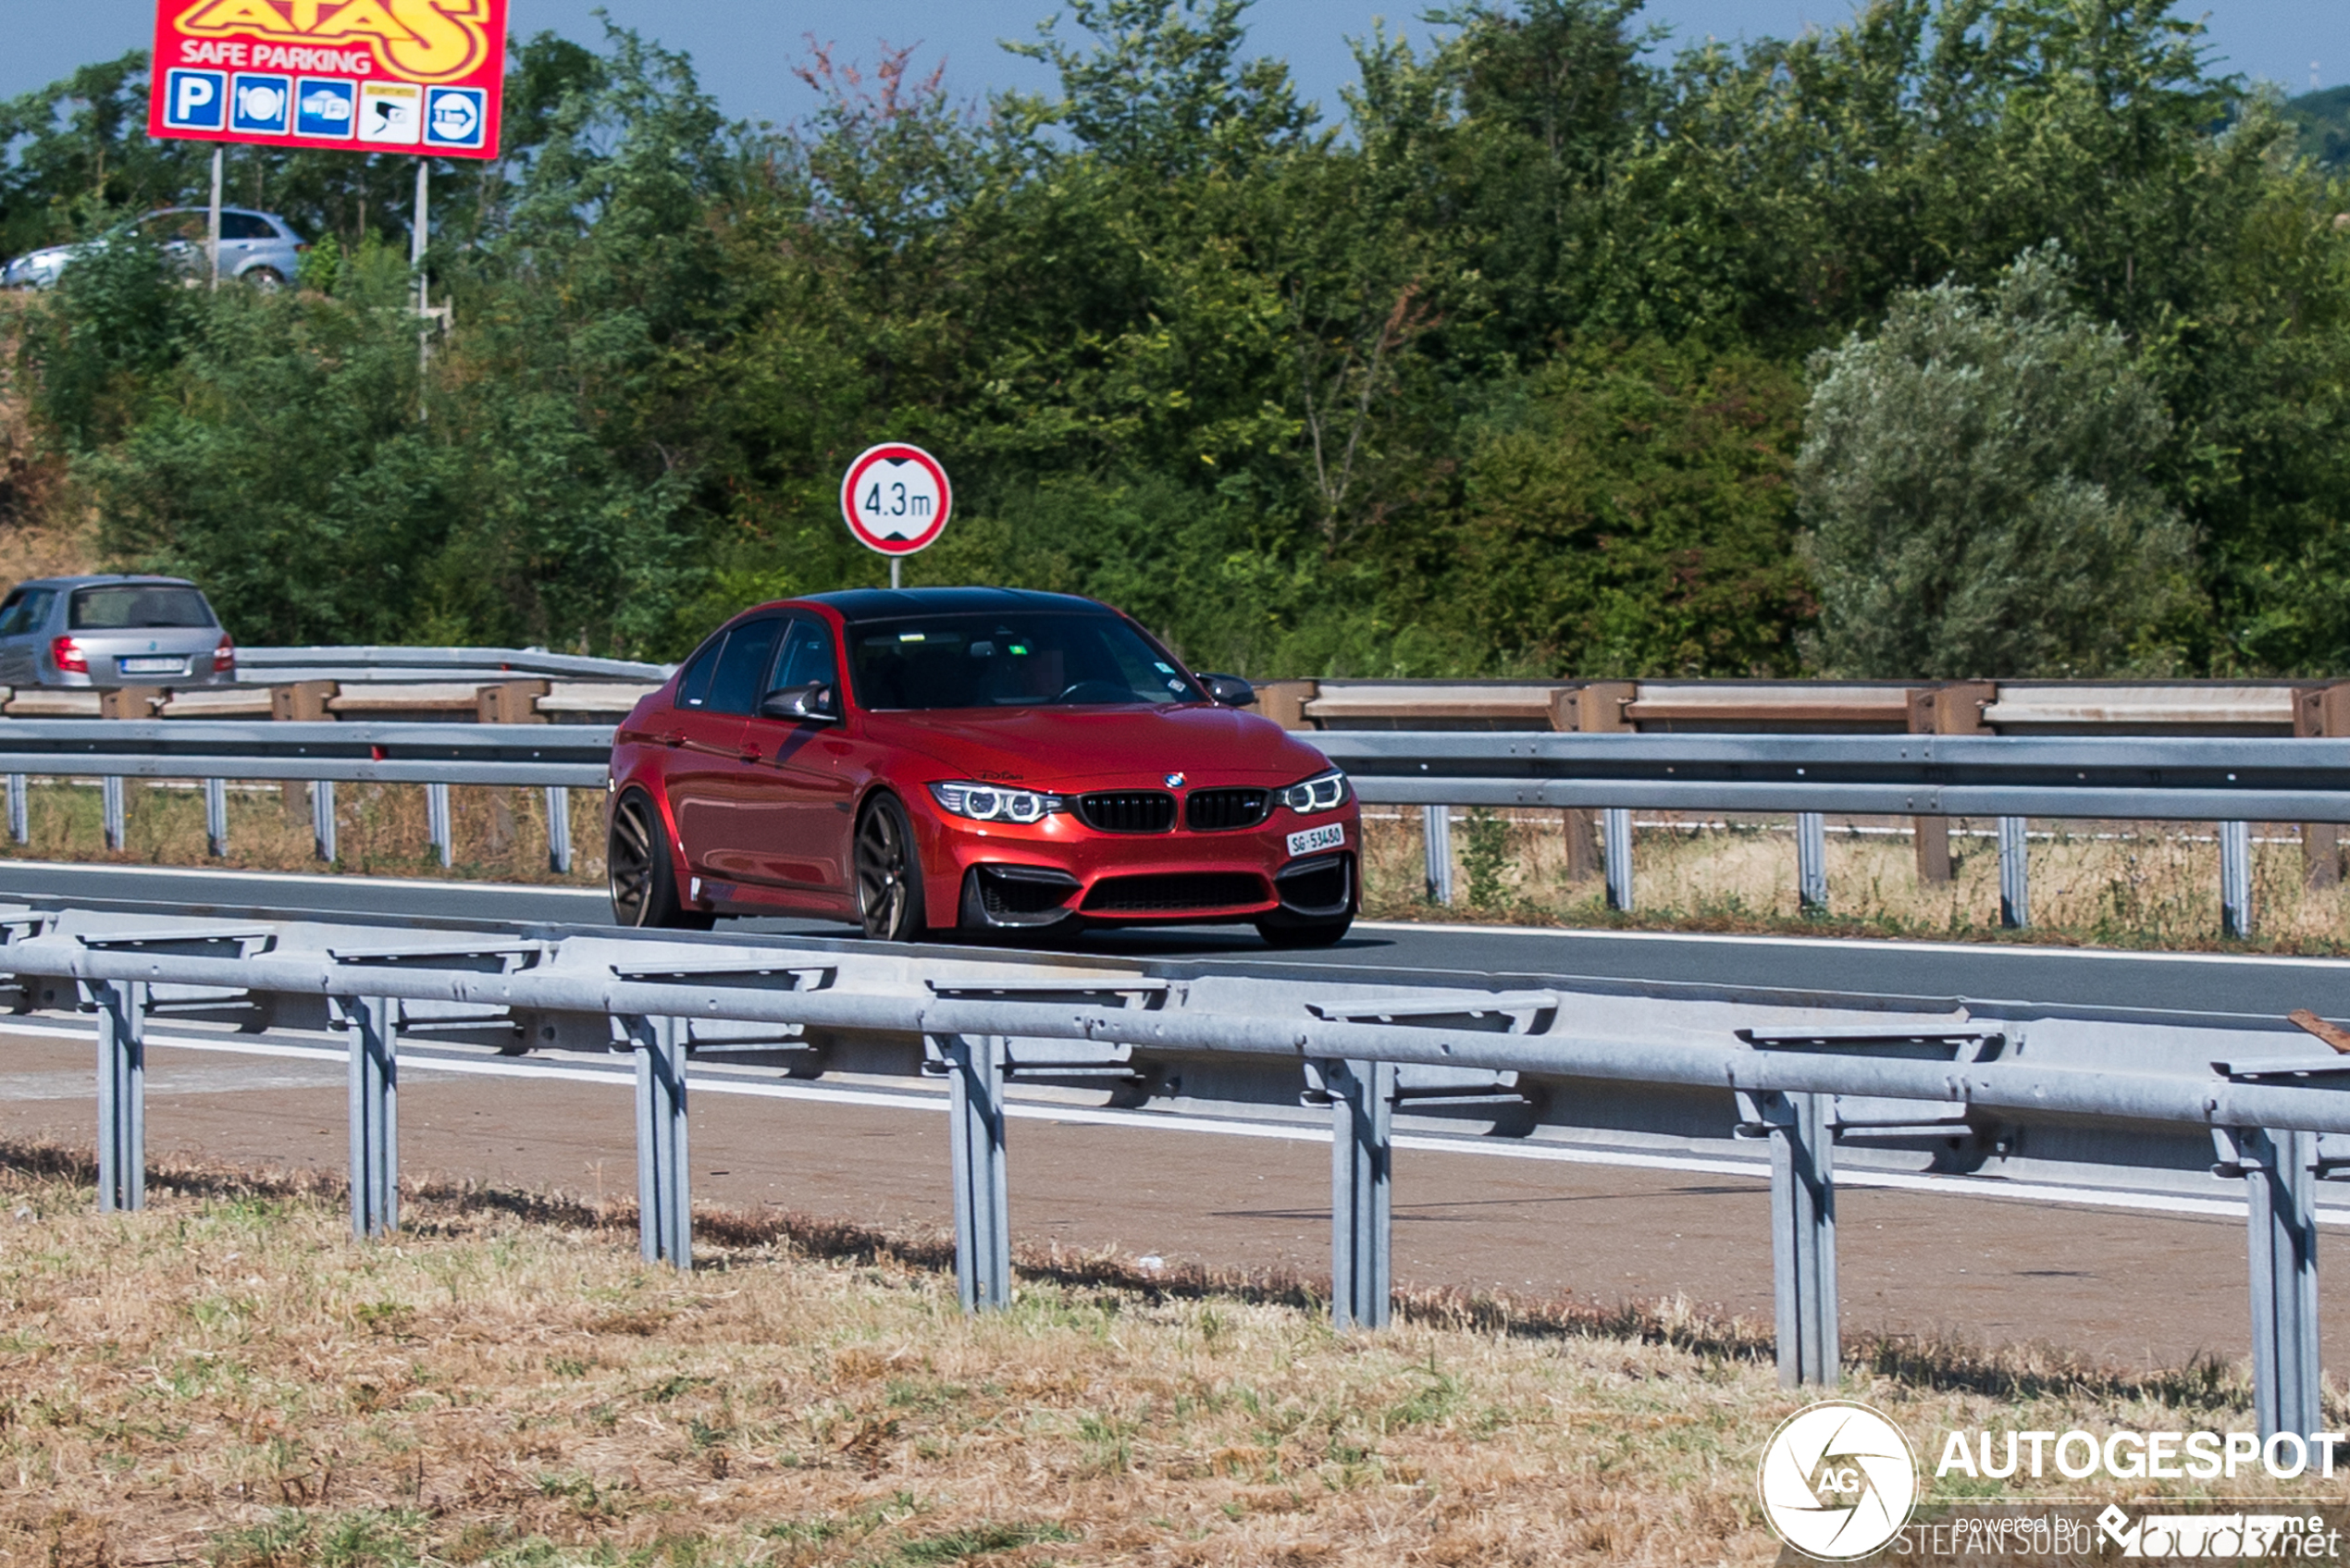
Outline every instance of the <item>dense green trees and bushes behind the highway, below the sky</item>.
MULTIPOLYGON (((249 642, 674 656, 881 581, 837 484, 895 437, 956 480, 909 581, 1255 675, 2350 665, 2331 110, 2169 0, 1678 52, 1471 0, 1340 103, 1243 24, 1072 0, 1043 96, 813 49, 783 127, 625 31, 522 40, 505 158, 435 174, 425 369, 411 165, 235 150, 301 287, 108 244, 14 386, 99 550, 249 642)), ((0 108, 0 244, 193 195, 143 103, 125 56, 0 108)))

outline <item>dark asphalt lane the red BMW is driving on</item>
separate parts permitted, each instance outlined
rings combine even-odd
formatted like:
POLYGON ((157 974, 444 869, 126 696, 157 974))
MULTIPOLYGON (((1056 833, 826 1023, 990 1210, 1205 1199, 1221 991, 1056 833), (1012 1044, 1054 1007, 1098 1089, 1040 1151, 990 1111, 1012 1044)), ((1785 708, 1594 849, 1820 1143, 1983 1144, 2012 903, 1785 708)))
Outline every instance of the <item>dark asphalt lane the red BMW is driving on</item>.
MULTIPOLYGON (((188 914, 357 914, 432 922, 604 924, 602 893, 583 889, 160 870, 0 860, 0 898, 139 905, 188 914)), ((827 922, 721 922, 719 933, 848 936, 827 922)), ((2099 952, 1990 943, 1678 936, 1647 931, 1530 931, 1363 922, 1325 952, 1274 954, 1248 926, 1104 931, 1074 952, 1236 964, 1300 964, 1382 976, 1478 976, 1502 985, 1572 978, 1845 992, 2042 1006, 2244 1013, 2312 1009, 2350 1018, 2350 961, 2228 954, 2099 952)))

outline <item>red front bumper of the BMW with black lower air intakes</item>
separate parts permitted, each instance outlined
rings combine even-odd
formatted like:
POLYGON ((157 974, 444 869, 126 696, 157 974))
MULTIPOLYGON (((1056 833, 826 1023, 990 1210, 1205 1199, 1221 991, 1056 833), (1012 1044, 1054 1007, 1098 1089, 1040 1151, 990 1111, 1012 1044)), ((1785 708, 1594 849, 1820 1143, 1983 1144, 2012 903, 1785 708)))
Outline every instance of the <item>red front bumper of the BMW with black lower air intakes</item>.
POLYGON ((921 811, 914 832, 933 924, 966 931, 1314 924, 1342 919, 1358 903, 1363 825, 1351 804, 1309 818, 1281 809, 1234 832, 1135 835, 1097 832, 1067 813, 1013 825, 921 811), (1309 830, 1323 832, 1292 853, 1292 835, 1309 830))

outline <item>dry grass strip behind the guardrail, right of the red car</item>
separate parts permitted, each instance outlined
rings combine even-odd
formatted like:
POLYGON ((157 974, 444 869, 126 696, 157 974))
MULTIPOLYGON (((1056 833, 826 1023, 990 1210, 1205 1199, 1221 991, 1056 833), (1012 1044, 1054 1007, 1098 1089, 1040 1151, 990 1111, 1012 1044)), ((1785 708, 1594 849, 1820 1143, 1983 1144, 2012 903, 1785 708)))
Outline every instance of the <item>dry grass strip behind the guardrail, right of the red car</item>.
POLYGON ((1607 910, 1598 877, 1567 875, 1560 811, 1455 816, 1455 903, 1438 910, 1424 896, 1419 813, 1375 809, 1363 823, 1365 907, 1386 919, 2350 950, 2350 886, 2305 884, 2291 825, 2254 825, 2254 938, 2237 943, 2221 938, 2218 844, 2207 823, 2035 820, 2030 931, 1998 924, 2000 856, 1988 820, 1953 823, 1960 830, 1950 839, 1953 879, 1927 884, 1918 877, 1913 839, 1887 832, 1889 820, 1831 818, 1826 917, 1805 917, 1798 905, 1788 818, 1676 823, 1668 813, 1638 813, 1636 823, 1633 914, 1607 910))

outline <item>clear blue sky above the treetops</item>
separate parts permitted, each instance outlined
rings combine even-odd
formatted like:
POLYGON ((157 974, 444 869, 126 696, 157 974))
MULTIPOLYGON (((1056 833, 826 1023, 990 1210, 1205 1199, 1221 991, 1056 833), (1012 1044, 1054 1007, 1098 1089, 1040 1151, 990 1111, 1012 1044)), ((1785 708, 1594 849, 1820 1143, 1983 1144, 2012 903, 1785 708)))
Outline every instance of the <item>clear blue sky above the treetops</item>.
MULTIPOLYGON (((848 59, 872 59, 879 42, 921 45, 921 56, 945 56, 956 92, 985 87, 1046 87, 1048 75, 1003 54, 1001 38, 1027 38, 1055 0, 512 0, 517 33, 552 28, 571 38, 599 35, 597 5, 613 21, 689 52, 728 113, 785 120, 806 103, 790 75, 806 38, 837 42, 848 59)), ((1391 28, 1419 35, 1419 5, 1363 0, 1257 0, 1250 42, 1290 61, 1307 96, 1337 110, 1337 89, 1354 78, 1347 38, 1386 16, 1391 28)), ((2197 14, 2195 0, 2181 5, 2197 14)), ((153 28, 153 0, 0 0, 0 96, 56 80, 78 63, 141 47, 153 28)), ((1838 0, 1652 0, 1647 19, 1680 40, 1791 35, 1831 26, 1852 14, 1838 0)), ((2211 0, 2209 28, 2225 68, 2308 92, 2310 66, 2324 87, 2350 82, 2350 2, 2345 0, 2211 0)))

